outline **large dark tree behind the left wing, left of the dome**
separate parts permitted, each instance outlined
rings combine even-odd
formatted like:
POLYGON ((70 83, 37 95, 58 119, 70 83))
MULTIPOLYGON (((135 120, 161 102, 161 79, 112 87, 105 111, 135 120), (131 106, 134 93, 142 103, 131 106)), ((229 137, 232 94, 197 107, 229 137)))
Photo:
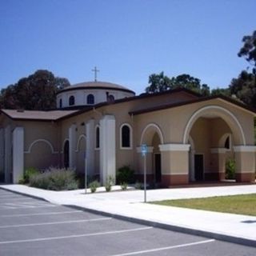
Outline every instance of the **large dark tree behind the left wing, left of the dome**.
POLYGON ((66 78, 54 77, 48 70, 37 70, 27 78, 1 90, 0 106, 6 109, 50 110, 56 107, 55 94, 70 86, 66 78))

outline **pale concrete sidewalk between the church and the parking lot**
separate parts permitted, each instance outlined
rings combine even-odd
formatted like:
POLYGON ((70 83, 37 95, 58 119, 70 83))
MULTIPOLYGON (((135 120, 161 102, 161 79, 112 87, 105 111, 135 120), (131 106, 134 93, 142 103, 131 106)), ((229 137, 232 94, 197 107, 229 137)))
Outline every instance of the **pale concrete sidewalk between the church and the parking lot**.
MULTIPOLYGON (((85 194, 85 190, 47 191, 23 185, 0 188, 59 205, 78 206, 134 222, 256 247, 256 217, 147 204, 143 203, 143 190, 85 194)), ((114 190, 118 189, 114 186, 114 190)), ((256 194, 256 185, 148 190, 147 202, 252 193, 256 194)))

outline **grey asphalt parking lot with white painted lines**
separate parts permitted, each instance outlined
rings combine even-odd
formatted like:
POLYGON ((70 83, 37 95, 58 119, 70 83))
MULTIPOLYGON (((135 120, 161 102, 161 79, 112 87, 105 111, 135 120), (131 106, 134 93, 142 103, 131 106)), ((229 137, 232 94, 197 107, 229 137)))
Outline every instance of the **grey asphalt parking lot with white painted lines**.
POLYGON ((256 248, 139 225, 0 190, 0 255, 28 254, 235 256, 255 255, 256 248))

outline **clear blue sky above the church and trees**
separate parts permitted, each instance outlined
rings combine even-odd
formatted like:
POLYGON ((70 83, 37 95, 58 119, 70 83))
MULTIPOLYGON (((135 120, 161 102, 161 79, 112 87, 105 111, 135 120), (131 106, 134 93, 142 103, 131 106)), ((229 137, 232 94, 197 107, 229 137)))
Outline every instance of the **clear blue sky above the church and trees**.
POLYGON ((71 84, 116 82, 142 93, 150 74, 227 87, 246 69, 242 37, 255 0, 0 0, 0 88, 46 69, 71 84))

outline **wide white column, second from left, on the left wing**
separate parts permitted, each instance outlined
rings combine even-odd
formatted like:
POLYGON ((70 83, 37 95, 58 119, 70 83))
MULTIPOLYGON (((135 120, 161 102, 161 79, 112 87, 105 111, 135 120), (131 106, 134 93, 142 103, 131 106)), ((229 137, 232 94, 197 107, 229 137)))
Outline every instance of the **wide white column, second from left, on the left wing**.
POLYGON ((13 132, 13 182, 18 183, 24 171, 24 128, 16 127, 13 132))

